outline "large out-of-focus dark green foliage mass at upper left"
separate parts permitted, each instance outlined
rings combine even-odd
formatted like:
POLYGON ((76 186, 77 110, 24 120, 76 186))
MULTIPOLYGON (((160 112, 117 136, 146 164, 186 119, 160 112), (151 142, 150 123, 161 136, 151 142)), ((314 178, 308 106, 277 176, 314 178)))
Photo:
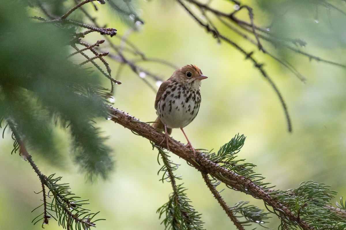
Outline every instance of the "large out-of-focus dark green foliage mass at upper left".
POLYGON ((107 90, 95 72, 67 59, 75 28, 34 21, 25 7, 10 1, 0 9, 0 117, 10 118, 26 146, 51 162, 59 159, 54 124, 61 124, 86 177, 106 179, 111 150, 91 122, 107 117, 107 90))

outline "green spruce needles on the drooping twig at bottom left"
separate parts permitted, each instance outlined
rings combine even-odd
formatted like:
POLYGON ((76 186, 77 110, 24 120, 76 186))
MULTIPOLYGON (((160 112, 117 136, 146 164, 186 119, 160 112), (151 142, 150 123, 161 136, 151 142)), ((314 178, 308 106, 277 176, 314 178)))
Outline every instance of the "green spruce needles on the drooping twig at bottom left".
MULTIPOLYGON (((95 226, 95 222, 103 219, 94 220, 94 217, 98 214, 90 212, 89 209, 84 208, 86 201, 88 200, 76 200, 80 197, 75 196, 71 191, 69 191, 68 183, 59 183, 61 177, 53 178, 55 174, 45 178, 45 185, 49 189, 48 194, 43 194, 44 198, 51 198, 48 203, 43 203, 37 208, 41 206, 46 206, 47 210, 52 212, 47 213, 50 215, 49 217, 54 218, 58 221, 58 224, 65 229, 90 229, 90 227, 95 226), (56 214, 56 217, 53 214, 56 214)), ((39 193, 44 192, 40 191, 39 193)), ((35 211, 35 208, 33 211, 35 211)), ((33 212, 32 211, 32 212, 33 212)), ((37 222, 44 219, 44 212, 39 214, 32 222, 36 224, 37 222)), ((45 224, 45 222, 44 222, 45 224)))

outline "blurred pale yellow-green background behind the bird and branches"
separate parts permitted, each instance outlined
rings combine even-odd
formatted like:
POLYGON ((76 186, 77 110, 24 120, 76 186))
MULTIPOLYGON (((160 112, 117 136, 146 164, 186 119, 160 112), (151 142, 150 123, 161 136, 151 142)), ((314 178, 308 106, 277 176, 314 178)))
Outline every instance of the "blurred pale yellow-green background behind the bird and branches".
MULTIPOLYGON (((346 62, 346 17, 341 13, 321 6, 318 13, 316 8, 296 7, 278 17, 284 7, 277 4, 273 9, 265 1, 255 2, 244 1, 254 6, 255 22, 260 26, 266 27, 275 19, 273 29, 276 33, 287 33, 307 42, 303 51, 339 63, 346 62)), ((255 54, 261 63, 265 63, 266 71, 288 106, 293 124, 293 132, 288 133, 276 94, 242 54, 224 42, 218 44, 173 1, 138 1, 138 7, 145 24, 129 35, 131 42, 147 57, 167 60, 177 66, 195 64, 209 77, 202 82, 199 114, 184 129, 195 148, 218 150, 237 133, 245 134, 247 138, 239 158, 256 164, 255 171, 266 177, 264 181, 282 190, 296 188, 308 180, 326 183, 339 192, 333 203, 339 201, 346 193, 345 69, 273 49, 288 58, 306 77, 303 83, 277 62, 255 54)), ((87 8, 93 12, 92 6, 87 8)), ((108 9, 107 2, 98 5, 98 9, 93 15, 100 23, 118 29, 119 35, 127 33, 128 27, 108 9)), ((245 50, 256 50, 240 37, 233 34, 230 37, 245 50)), ((111 39, 119 43, 118 38, 111 39)), ((90 42, 94 41, 90 39, 90 42)), ((115 73, 118 64, 107 60, 115 73)), ((143 66, 164 79, 174 71, 158 63, 143 66)), ((156 92, 129 68, 125 68, 117 80, 122 84, 115 86, 114 107, 142 121, 154 121, 156 92)), ((152 83, 157 89, 155 82, 152 83)), ((61 148, 66 149, 66 159, 62 166, 52 165, 32 152, 34 161, 44 174, 63 176, 62 181, 70 183, 75 194, 90 199, 88 208, 101 211, 99 218, 107 219, 97 222, 97 229, 163 229, 156 210, 167 202, 171 185, 159 181, 161 176, 157 176, 157 171, 161 166, 157 163, 157 151, 152 150, 148 140, 112 121, 99 120, 98 126, 104 131, 104 136, 109 136, 107 144, 114 150, 116 170, 110 180, 85 182, 84 175, 73 166, 64 141, 61 148)), ((39 212, 30 212, 41 204, 42 196, 34 193, 40 190, 40 182, 28 162, 17 154, 10 154, 10 136, 6 130, 4 139, 0 140, 0 230, 41 229, 40 223, 31 224, 39 212)), ((185 143, 180 130, 173 130, 172 137, 185 143)), ((200 173, 182 159, 172 158, 181 164, 177 173, 183 176, 192 205, 202 213, 205 228, 236 229, 212 197, 200 173)), ((229 206, 240 200, 249 200, 264 209, 262 201, 243 193, 225 190, 221 194, 229 206)), ((266 226, 276 229, 279 220, 273 217, 270 221, 266 226)), ((45 228, 62 229, 54 220, 49 221, 45 228)), ((262 228, 258 226, 258 229, 262 228)))

